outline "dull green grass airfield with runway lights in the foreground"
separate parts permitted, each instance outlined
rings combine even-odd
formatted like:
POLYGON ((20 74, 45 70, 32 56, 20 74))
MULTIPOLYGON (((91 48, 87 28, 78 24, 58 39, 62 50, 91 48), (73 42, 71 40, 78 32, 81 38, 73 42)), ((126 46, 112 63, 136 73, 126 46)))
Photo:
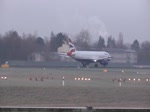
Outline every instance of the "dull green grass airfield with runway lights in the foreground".
POLYGON ((0 106, 150 108, 149 69, 0 68, 0 77, 0 106))

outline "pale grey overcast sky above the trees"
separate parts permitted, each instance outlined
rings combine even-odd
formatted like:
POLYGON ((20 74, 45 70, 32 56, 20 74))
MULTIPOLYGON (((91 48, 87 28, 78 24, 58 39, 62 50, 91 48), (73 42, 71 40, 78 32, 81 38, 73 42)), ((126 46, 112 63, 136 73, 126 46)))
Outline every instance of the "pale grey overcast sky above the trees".
POLYGON ((0 0, 0 34, 10 30, 49 37, 74 37, 88 29, 93 40, 119 32, 124 41, 150 41, 149 0, 0 0))

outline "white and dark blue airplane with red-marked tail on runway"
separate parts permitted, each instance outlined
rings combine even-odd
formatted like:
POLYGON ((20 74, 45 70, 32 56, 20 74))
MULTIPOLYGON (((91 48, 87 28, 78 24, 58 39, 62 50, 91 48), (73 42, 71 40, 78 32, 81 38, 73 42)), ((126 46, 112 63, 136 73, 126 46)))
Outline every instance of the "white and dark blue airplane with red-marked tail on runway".
POLYGON ((69 52, 67 55, 82 63, 83 67, 88 67, 90 63, 95 63, 95 67, 98 67, 98 63, 104 67, 108 65, 111 60, 111 56, 105 51, 77 51, 71 39, 68 38, 69 52))

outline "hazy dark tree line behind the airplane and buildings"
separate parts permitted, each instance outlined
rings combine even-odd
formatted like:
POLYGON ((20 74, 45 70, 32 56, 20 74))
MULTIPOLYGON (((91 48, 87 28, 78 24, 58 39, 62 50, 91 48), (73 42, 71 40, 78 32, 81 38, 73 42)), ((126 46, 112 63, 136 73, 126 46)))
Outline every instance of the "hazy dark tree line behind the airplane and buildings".
MULTIPOLYGON (((43 53, 48 59, 51 52, 57 52, 58 47, 68 42, 67 37, 65 33, 51 32, 50 37, 43 39, 33 34, 20 36, 17 31, 8 31, 0 35, 0 61, 29 60, 33 53, 43 53)), ((138 55, 138 64, 150 64, 150 42, 139 43, 138 40, 134 40, 130 45, 125 45, 122 33, 119 33, 118 40, 109 36, 105 42, 104 37, 99 36, 97 41, 91 43, 91 35, 88 30, 82 30, 74 37, 73 43, 79 50, 132 49, 138 55)))

